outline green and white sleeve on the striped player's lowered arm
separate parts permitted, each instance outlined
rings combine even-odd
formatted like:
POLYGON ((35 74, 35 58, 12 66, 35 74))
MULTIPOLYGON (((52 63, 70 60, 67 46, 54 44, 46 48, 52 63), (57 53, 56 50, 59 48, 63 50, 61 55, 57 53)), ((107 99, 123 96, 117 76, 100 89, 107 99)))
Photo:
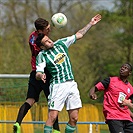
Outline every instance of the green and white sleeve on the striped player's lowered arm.
POLYGON ((36 57, 36 72, 44 73, 45 67, 46 67, 46 61, 42 52, 40 52, 36 57))

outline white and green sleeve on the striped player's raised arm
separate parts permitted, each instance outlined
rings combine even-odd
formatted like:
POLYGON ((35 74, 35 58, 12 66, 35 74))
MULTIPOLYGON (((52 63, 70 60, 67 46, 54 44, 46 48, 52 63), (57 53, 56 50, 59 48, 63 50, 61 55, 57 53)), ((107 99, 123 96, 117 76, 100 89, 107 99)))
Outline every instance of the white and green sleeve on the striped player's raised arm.
POLYGON ((76 35, 72 35, 66 38, 62 38, 61 41, 66 45, 68 48, 71 44, 76 42, 76 35))

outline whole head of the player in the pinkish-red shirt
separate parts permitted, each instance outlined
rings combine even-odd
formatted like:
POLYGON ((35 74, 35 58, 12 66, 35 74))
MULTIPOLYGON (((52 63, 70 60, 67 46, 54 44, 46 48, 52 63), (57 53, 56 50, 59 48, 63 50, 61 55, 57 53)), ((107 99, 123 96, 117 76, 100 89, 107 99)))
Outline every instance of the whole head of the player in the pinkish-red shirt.
POLYGON ((120 67, 120 76, 128 77, 132 73, 132 65, 130 63, 125 63, 120 67))

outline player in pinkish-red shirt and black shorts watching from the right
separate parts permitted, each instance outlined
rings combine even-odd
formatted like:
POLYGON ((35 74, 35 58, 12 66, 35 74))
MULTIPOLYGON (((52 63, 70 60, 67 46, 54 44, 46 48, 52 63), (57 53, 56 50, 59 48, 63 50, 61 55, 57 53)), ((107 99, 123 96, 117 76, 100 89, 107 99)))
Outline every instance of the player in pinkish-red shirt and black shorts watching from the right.
POLYGON ((133 120, 124 99, 133 98, 133 87, 128 82, 132 66, 123 64, 119 77, 109 77, 97 83, 89 91, 91 99, 97 99, 95 92, 104 91, 103 113, 111 133, 133 133, 133 120))

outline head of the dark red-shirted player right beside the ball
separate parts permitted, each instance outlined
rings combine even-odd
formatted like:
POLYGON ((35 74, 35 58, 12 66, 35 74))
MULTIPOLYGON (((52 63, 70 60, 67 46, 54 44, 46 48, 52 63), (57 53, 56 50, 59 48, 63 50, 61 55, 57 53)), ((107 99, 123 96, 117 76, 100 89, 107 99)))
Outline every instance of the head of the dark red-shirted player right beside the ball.
POLYGON ((43 18, 38 18, 34 22, 35 28, 38 31, 38 33, 43 33, 45 35, 48 35, 50 32, 50 24, 47 20, 43 18))

